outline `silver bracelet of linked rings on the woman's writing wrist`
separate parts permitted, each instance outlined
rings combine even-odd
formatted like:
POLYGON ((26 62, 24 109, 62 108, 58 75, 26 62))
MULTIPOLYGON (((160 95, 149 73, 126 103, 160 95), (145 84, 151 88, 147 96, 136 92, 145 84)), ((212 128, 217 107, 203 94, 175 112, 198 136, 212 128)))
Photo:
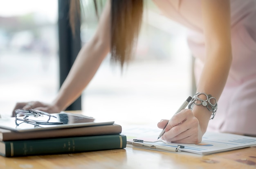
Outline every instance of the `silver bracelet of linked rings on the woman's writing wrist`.
POLYGON ((203 105, 204 107, 207 107, 207 109, 212 112, 210 119, 214 118, 218 107, 216 98, 212 97, 210 94, 207 95, 206 93, 196 93, 189 103, 188 108, 192 110, 194 105, 203 105), (206 100, 199 98, 200 95, 204 95, 206 100))

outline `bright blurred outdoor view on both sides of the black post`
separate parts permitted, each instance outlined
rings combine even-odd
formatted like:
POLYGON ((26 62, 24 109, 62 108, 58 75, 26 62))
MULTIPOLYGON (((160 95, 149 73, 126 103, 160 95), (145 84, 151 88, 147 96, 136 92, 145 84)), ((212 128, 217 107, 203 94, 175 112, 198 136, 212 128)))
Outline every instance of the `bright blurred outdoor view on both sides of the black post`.
MULTIPOLYGON (((8 117, 16 102, 52 102, 58 93, 58 1, 0 4, 0 114, 8 117)), ((86 44, 98 22, 92 0, 83 0, 81 14, 86 44)), ((191 81, 185 29, 146 0, 134 60, 121 72, 107 56, 82 94, 82 111, 118 124, 156 125, 191 95, 191 81)))

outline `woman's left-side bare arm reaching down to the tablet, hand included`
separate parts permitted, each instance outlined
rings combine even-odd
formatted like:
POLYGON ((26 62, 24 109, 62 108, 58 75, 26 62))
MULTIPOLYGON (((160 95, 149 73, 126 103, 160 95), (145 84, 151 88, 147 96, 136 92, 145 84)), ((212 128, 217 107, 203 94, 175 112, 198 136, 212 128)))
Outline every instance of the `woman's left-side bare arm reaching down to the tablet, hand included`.
POLYGON ((65 110, 82 93, 92 80, 101 62, 110 51, 110 2, 106 3, 97 31, 87 44, 79 51, 70 72, 63 82, 58 96, 52 104, 43 102, 20 102, 15 109, 37 109, 48 113, 65 110))

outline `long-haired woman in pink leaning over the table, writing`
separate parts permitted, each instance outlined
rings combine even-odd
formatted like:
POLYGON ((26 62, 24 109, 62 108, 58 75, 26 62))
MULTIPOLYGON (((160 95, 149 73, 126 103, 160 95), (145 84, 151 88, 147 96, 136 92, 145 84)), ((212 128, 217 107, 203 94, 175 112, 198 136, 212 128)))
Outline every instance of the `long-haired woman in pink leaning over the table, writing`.
MULTIPOLYGON (((198 143, 207 127, 256 135, 255 0, 154 2, 164 15, 190 30, 189 47, 196 58, 197 94, 191 109, 173 116, 162 139, 198 143)), ((107 53, 111 52, 112 60, 121 66, 129 61, 139 31, 142 4, 141 0, 107 2, 96 34, 82 47, 54 102, 18 103, 15 109, 33 108, 49 113, 65 110, 81 95, 107 53)), ((160 121, 158 127, 164 128, 167 122, 160 121)))

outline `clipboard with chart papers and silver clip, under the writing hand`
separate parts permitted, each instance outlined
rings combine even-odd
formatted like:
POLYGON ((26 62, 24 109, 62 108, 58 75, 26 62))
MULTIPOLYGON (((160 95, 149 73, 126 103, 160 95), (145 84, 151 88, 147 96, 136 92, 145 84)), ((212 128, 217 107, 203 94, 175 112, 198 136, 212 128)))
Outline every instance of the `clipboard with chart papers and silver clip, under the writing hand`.
POLYGON ((256 138, 249 136, 242 136, 230 133, 214 133, 214 132, 206 132, 202 138, 202 142, 197 144, 184 144, 184 143, 173 143, 166 142, 164 140, 159 141, 148 141, 139 140, 137 137, 133 139, 132 146, 142 148, 142 149, 150 149, 150 150, 158 150, 158 151, 166 151, 166 152, 188 152, 199 155, 209 155, 213 153, 220 153, 224 151, 231 151, 235 149, 241 149, 245 147, 252 147, 256 145, 256 138))

